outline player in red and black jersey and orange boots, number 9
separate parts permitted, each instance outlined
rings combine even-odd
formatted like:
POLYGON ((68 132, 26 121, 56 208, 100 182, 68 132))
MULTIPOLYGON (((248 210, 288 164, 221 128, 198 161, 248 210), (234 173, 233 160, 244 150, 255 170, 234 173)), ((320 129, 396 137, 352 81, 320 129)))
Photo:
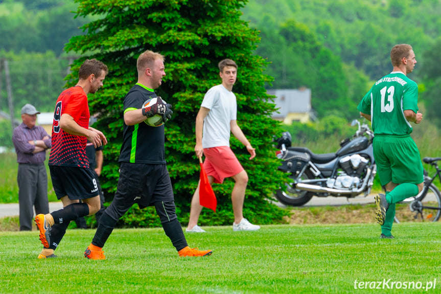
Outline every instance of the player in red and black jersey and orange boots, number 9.
POLYGON ((71 220, 100 209, 98 186, 89 169, 85 147, 87 140, 99 147, 107 144, 107 139, 101 131, 89 127, 87 94, 98 91, 107 72, 103 62, 87 59, 80 67, 78 83, 63 91, 55 105, 49 169, 63 209, 35 217, 43 244, 40 259, 56 257, 54 251, 71 220))

